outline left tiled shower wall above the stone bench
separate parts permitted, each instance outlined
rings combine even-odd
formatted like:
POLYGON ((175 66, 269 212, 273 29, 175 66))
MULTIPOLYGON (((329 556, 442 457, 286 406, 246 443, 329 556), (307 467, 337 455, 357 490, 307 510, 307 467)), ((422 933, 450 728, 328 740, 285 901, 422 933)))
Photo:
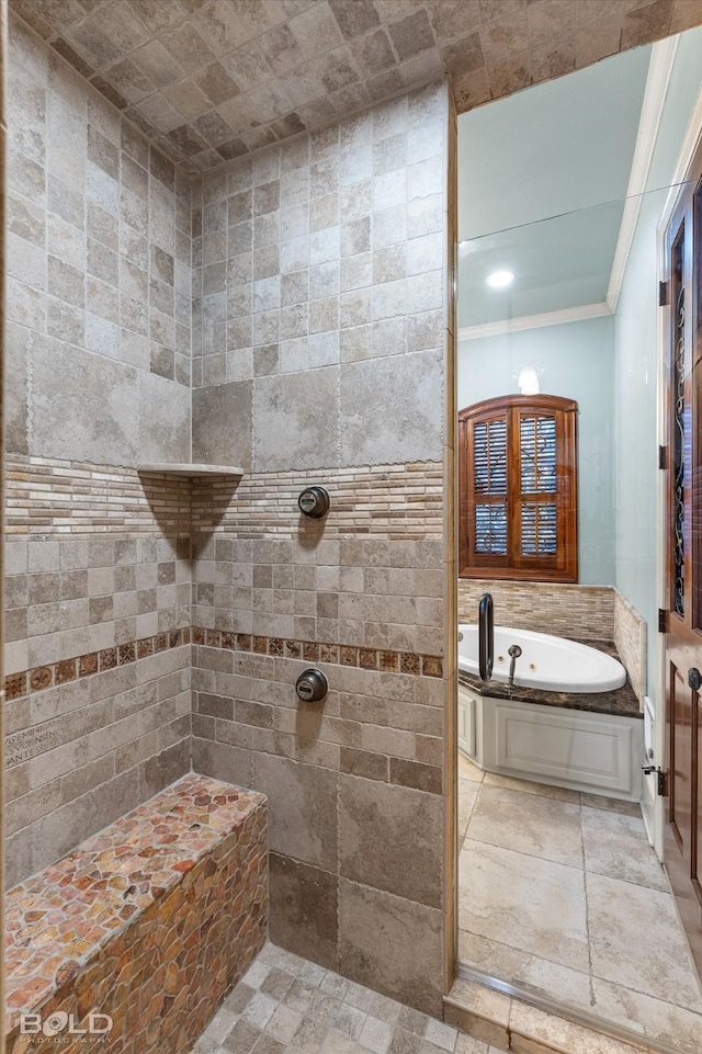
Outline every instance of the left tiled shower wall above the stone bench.
POLYGON ((12 19, 7 87, 12 883, 190 764, 191 189, 12 19))

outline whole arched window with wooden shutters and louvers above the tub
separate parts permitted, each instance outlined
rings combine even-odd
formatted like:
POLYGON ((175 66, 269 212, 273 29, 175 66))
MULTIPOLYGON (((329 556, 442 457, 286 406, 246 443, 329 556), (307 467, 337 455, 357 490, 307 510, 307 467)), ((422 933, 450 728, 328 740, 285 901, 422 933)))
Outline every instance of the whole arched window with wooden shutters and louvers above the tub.
POLYGON ((555 395, 461 410, 462 578, 577 582, 577 411, 555 395))

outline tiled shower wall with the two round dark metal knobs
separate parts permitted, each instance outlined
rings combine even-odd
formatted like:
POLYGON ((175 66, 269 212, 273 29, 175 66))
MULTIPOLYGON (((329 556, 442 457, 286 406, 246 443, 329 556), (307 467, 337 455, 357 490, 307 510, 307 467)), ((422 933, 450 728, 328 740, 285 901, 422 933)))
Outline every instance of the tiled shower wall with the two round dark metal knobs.
POLYGON ((193 361, 193 458, 247 473, 197 547, 194 766, 269 795, 273 939, 434 1011, 448 127, 428 88, 205 178, 193 361))

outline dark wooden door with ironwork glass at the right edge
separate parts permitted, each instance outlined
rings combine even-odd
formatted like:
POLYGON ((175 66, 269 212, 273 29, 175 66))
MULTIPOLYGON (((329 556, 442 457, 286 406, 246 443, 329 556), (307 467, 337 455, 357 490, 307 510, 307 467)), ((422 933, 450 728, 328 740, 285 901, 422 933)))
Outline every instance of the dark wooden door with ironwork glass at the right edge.
MULTIPOLYGON (((702 172, 700 166, 693 171, 702 172)), ((702 180, 665 238, 667 304, 666 824, 664 859, 702 973, 702 180)))

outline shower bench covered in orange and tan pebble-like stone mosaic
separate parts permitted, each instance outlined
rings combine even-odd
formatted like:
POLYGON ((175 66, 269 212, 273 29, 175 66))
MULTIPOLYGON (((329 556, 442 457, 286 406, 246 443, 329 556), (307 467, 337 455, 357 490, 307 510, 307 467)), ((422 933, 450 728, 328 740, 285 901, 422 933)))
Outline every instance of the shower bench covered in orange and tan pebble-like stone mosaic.
POLYGON ((7 894, 5 1050, 189 1052, 267 925, 265 798, 185 775, 7 894))

